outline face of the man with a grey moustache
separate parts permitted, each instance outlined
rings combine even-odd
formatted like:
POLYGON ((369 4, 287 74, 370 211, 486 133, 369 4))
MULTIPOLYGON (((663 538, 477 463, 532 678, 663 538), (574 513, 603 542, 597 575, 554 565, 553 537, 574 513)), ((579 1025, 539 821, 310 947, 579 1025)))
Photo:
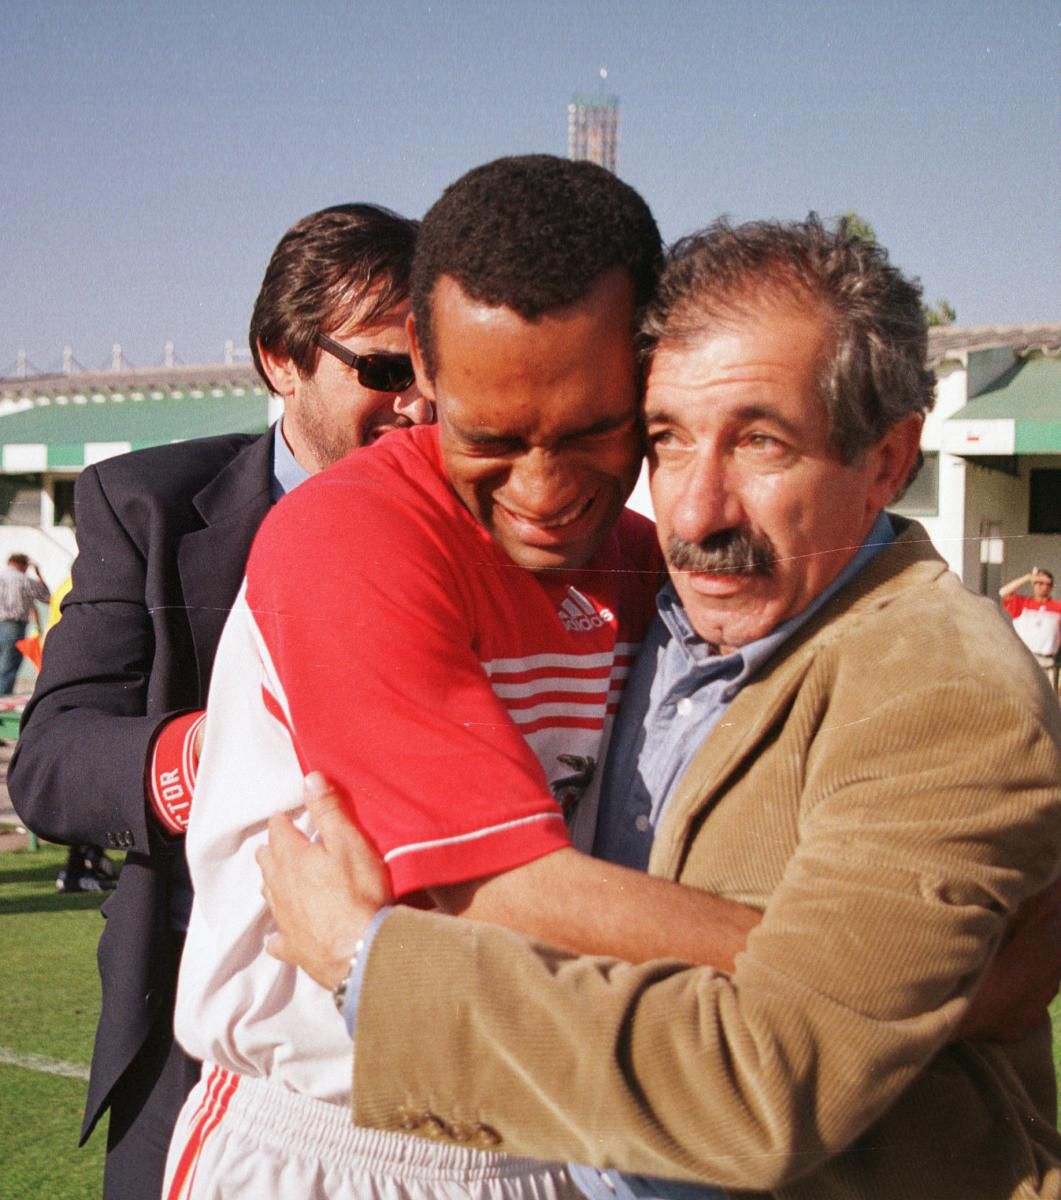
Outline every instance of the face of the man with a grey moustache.
POLYGON ((693 628, 723 652, 763 637, 835 578, 917 454, 921 419, 907 418, 839 461, 816 385, 828 338, 813 310, 775 304, 653 358, 660 545, 693 628))

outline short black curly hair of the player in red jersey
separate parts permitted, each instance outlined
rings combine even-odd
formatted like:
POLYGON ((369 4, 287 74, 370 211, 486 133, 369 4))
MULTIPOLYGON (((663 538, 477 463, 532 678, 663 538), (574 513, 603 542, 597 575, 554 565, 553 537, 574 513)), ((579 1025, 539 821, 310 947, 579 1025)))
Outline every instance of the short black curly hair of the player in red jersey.
POLYGON ((648 205, 595 163, 523 155, 475 167, 432 205, 416 242, 413 313, 427 372, 437 368, 431 300, 444 275, 473 300, 533 320, 581 300, 616 266, 640 308, 661 258, 648 205))

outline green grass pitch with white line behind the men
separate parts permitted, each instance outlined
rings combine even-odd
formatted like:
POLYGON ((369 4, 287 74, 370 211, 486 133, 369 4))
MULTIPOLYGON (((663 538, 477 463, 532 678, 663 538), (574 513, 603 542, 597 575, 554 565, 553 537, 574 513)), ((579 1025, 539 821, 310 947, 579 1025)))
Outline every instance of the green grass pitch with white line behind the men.
MULTIPOLYGON (((98 1007, 102 898, 55 892, 65 857, 55 846, 0 854, 0 1200, 100 1195, 103 1130, 84 1150, 77 1139, 98 1007), (67 1069, 84 1078, 49 1073, 67 1069)), ((1061 998, 1053 1013, 1061 1076, 1061 998)))

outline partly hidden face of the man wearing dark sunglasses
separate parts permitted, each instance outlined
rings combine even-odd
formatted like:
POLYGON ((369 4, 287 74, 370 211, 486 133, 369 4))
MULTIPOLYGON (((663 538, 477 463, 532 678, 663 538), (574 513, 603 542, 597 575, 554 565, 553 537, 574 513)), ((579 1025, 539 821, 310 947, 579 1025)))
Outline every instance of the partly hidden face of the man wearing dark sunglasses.
MULTIPOLYGON (((408 302, 367 325, 354 313, 329 336, 355 354, 408 354, 408 302)), ((318 353, 310 376, 300 374, 286 354, 264 347, 259 353, 274 390, 283 398, 283 437, 310 472, 323 470, 389 430, 430 420, 430 404, 415 384, 398 394, 374 391, 360 382, 354 367, 326 350, 318 353)))

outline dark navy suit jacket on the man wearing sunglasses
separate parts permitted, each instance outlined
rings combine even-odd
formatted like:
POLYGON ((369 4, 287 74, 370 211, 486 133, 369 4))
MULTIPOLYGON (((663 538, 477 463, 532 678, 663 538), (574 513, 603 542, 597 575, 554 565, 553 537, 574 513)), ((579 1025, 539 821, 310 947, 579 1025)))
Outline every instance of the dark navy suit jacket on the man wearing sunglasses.
POLYGON ((103 1003, 82 1140, 173 991, 169 880, 184 848, 148 815, 145 763, 164 721, 205 704, 271 475, 270 433, 121 455, 78 480, 73 588, 7 784, 42 838, 127 851, 103 906, 103 1003))

